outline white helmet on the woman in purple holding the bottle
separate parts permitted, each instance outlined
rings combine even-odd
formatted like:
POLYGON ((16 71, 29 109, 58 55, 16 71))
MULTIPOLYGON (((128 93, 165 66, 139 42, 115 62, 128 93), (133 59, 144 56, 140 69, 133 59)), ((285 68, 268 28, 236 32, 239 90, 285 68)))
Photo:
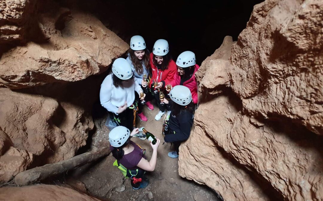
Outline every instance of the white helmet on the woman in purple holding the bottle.
POLYGON ((129 138, 130 131, 124 126, 117 126, 109 132, 109 142, 113 147, 121 147, 129 138))

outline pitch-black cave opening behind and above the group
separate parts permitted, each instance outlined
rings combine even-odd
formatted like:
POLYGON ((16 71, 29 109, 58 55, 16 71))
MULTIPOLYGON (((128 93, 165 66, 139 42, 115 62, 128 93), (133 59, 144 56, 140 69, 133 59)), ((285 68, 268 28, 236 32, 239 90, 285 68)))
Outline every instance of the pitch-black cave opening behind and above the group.
MULTIPOLYGON (((62 1, 62 0, 60 0, 62 1)), ((128 44, 141 35, 148 50, 165 39, 173 60, 183 51, 193 51, 197 64, 220 47, 225 36, 236 41, 250 18, 253 6, 261 0, 232 1, 77 1, 62 4, 79 6, 96 15, 128 44)))

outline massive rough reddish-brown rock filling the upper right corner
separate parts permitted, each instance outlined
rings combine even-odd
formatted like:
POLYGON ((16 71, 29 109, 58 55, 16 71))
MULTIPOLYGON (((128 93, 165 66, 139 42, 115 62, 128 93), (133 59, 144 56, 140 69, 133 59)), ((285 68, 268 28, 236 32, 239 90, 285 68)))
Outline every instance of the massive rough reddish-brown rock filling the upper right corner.
POLYGON ((249 114, 283 116, 323 134, 322 10, 320 0, 255 5, 229 68, 249 114))

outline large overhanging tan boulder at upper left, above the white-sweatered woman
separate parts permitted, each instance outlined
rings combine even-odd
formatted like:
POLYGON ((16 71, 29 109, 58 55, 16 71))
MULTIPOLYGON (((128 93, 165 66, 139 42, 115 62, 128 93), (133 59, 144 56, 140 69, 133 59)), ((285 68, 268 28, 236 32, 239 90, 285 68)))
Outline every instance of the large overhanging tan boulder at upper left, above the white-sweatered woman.
POLYGON ((54 8, 38 17, 40 37, 46 42, 28 42, 0 58, 0 82, 4 86, 23 88, 83 80, 106 71, 113 59, 128 50, 128 44, 96 17, 54 8))

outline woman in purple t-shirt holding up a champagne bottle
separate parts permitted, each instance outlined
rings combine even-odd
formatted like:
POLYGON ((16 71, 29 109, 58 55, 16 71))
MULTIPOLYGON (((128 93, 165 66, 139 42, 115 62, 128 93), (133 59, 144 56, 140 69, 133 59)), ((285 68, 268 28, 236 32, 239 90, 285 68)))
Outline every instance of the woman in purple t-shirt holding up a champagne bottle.
POLYGON ((152 156, 151 160, 148 162, 146 160, 142 148, 130 141, 131 136, 137 134, 138 128, 133 129, 130 133, 129 129, 124 126, 117 126, 111 130, 109 133, 110 150, 112 156, 117 159, 118 164, 123 165, 125 168, 129 169, 127 171, 127 177, 142 178, 139 183, 133 183, 133 179, 130 180, 133 189, 138 190, 144 188, 148 185, 148 180, 143 179, 145 171, 154 171, 157 161, 157 149, 160 140, 157 139, 156 144, 151 144, 152 156), (138 172, 137 172, 138 169, 138 172))

